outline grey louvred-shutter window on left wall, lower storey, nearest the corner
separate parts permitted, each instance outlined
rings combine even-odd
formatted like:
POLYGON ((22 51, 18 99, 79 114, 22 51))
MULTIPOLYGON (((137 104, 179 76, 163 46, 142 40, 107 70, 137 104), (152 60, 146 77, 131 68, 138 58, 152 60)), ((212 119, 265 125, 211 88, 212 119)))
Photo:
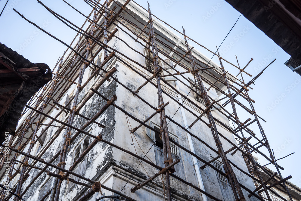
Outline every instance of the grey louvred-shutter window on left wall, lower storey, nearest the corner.
MULTIPOLYGON (((74 164, 74 162, 77 161, 77 159, 79 159, 79 156, 82 155, 82 153, 88 148, 89 146, 89 141, 90 141, 90 137, 87 136, 84 138, 84 140, 82 140, 74 149, 73 152, 73 158, 72 158, 72 164, 74 164)), ((88 160, 88 156, 86 155, 82 161, 73 169, 72 172, 84 176, 85 175, 85 169, 87 166, 87 160, 88 160)), ((70 174, 70 178, 74 179, 75 181, 79 181, 79 178, 71 175, 70 174)), ((68 184, 68 191, 72 190, 74 187, 76 186, 76 184, 69 182, 68 184)))

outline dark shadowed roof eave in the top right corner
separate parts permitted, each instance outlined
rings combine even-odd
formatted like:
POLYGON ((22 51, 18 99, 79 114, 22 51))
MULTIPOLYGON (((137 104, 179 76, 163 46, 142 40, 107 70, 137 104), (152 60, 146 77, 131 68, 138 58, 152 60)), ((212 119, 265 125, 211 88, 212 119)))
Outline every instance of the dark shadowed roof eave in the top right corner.
POLYGON ((225 0, 301 63, 300 0, 225 0))

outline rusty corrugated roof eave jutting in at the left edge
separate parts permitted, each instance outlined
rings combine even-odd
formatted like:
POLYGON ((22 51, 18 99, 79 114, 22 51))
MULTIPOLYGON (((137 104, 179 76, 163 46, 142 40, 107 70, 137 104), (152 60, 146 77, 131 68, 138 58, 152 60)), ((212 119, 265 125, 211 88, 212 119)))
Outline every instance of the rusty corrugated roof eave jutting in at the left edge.
POLYGON ((0 43, 0 143, 15 134, 27 101, 52 78, 45 63, 31 63, 0 43))

